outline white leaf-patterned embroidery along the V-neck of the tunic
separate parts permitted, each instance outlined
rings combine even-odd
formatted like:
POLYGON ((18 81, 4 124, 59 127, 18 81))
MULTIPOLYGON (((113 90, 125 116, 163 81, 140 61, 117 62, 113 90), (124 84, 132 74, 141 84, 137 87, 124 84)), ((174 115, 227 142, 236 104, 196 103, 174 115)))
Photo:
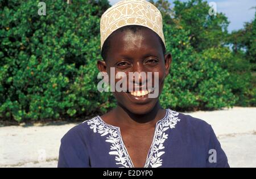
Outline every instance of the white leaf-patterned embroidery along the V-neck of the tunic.
MULTIPOLYGON (((165 153, 163 151, 164 142, 168 139, 166 130, 174 128, 176 123, 180 121, 177 117, 178 115, 179 113, 174 110, 167 109, 166 116, 156 122, 154 137, 144 165, 145 168, 162 166, 163 159, 161 159, 161 156, 165 153)), ((84 122, 87 122, 94 133, 101 134, 102 137, 106 137, 106 142, 111 143, 109 155, 115 155, 115 164, 117 164, 118 167, 134 167, 122 140, 120 127, 105 123, 100 116, 84 122)))

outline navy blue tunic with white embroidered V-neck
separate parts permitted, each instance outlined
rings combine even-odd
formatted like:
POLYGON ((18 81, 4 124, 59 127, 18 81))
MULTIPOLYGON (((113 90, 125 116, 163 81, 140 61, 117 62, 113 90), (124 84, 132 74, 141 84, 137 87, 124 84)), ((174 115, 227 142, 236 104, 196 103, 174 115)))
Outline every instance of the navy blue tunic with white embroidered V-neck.
MULTIPOLYGON (((120 128, 100 116, 68 131, 61 139, 58 167, 134 167, 120 128)), ((229 167, 212 127, 167 109, 156 123, 144 167, 229 167)))

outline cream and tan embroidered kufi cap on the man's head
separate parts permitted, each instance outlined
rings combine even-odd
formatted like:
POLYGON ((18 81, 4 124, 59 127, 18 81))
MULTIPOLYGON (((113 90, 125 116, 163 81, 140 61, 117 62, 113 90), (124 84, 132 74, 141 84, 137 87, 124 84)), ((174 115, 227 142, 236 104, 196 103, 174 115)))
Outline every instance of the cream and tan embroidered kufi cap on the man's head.
POLYGON ((101 49, 105 40, 118 28, 126 25, 142 25, 150 28, 162 39, 164 46, 162 15, 158 8, 145 0, 123 0, 110 7, 101 16, 101 49))

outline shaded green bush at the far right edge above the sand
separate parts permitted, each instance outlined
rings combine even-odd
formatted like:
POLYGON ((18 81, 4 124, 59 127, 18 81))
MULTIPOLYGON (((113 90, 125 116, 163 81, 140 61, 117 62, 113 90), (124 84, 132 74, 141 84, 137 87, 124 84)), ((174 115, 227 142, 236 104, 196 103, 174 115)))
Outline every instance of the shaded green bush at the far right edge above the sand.
POLYGON ((209 48, 203 51, 203 56, 220 63, 226 69, 225 84, 237 97, 236 105, 255 106, 255 78, 251 73, 251 63, 241 54, 234 54, 228 47, 209 48))

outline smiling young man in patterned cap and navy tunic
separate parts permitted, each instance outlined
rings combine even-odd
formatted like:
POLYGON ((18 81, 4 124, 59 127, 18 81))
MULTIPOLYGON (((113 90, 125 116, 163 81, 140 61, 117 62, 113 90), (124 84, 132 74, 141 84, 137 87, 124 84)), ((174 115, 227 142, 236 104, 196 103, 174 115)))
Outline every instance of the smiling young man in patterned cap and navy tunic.
POLYGON ((121 76, 114 87, 124 79, 127 90, 114 90, 115 109, 64 135, 58 167, 229 167, 208 123, 159 103, 172 62, 162 27, 159 10, 144 0, 121 1, 102 15, 97 66, 110 78, 114 69, 121 76))

